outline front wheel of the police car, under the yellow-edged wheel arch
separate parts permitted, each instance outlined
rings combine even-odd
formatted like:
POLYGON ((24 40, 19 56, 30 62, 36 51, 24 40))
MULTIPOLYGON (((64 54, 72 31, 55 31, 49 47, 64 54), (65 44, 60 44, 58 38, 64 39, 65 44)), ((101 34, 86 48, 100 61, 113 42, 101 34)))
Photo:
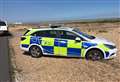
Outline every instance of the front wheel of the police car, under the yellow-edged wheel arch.
POLYGON ((89 50, 86 54, 88 60, 101 60, 103 59, 103 53, 98 49, 89 50))

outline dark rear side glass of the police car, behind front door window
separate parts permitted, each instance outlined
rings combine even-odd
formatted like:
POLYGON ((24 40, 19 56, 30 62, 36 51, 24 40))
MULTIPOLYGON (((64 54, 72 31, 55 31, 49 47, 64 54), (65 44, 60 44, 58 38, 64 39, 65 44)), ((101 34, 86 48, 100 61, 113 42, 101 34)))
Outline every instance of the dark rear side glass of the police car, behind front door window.
POLYGON ((45 31, 37 31, 32 36, 40 36, 40 37, 50 37, 50 38, 57 38, 57 32, 53 30, 45 30, 45 31))

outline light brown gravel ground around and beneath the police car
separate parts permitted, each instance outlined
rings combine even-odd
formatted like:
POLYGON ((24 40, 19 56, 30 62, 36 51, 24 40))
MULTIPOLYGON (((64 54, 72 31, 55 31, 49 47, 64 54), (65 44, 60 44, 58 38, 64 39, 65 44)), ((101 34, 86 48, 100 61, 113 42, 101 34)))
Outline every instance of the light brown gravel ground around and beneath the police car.
POLYGON ((88 61, 81 58, 32 58, 19 48, 20 35, 27 26, 11 27, 10 40, 14 78, 16 82, 119 82, 120 81, 120 28, 118 23, 80 24, 81 30, 103 36, 116 43, 117 57, 111 60, 88 61), (90 27, 83 28, 83 27, 90 27), (99 29, 97 29, 97 28, 99 29), (103 31, 103 28, 106 27, 103 31), (110 27, 110 28, 107 28, 110 27), (115 27, 115 28, 114 28, 115 27), (92 30, 92 28, 94 28, 92 30), (92 30, 92 31, 90 31, 92 30), (101 30, 101 31, 100 31, 101 30))

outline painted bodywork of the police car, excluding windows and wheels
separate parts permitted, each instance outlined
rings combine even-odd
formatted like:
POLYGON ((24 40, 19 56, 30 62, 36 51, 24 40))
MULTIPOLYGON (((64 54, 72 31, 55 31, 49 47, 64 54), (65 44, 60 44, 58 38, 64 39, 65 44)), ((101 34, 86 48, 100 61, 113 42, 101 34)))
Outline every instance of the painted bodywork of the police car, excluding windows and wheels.
MULTIPOLYGON (((116 48, 109 49, 104 45, 105 43, 115 45, 107 40, 96 38, 93 40, 76 42, 75 40, 70 39, 32 36, 31 34, 36 31, 36 29, 32 30, 25 36, 22 36, 26 39, 21 41, 21 49, 24 51, 29 51, 32 45, 36 45, 41 48, 43 54, 45 55, 68 57, 85 57, 86 53, 90 49, 99 49, 103 52, 104 59, 109 59, 116 56, 116 48)), ((72 30, 70 32, 72 32, 72 30)))

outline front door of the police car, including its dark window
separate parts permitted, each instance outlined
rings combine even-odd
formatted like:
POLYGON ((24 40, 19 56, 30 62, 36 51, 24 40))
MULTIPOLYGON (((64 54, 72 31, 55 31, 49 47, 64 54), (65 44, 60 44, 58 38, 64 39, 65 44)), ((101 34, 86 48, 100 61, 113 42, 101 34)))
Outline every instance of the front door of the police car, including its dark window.
POLYGON ((64 30, 59 31, 59 34, 61 37, 59 39, 60 55, 69 56, 69 57, 80 57, 81 56, 82 41, 77 42, 75 40, 75 38, 79 37, 79 36, 73 32, 64 31, 64 30))

